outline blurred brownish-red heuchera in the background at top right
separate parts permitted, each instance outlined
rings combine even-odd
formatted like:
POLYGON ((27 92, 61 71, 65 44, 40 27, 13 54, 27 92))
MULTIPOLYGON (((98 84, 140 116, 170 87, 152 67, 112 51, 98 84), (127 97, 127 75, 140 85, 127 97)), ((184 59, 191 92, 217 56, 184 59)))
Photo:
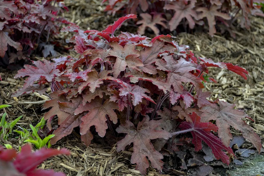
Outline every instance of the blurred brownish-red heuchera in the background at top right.
POLYGON ((234 28, 232 23, 238 20, 242 28, 250 28, 249 16, 264 16, 261 11, 262 6, 259 0, 103 0, 109 4, 105 11, 109 14, 121 13, 139 13, 142 17, 142 24, 138 28, 138 33, 143 35, 145 28, 149 27, 154 34, 159 34, 157 25, 163 29, 168 28, 174 31, 178 25, 183 22, 184 26, 191 29, 195 25, 204 25, 207 22, 209 34, 213 36, 216 33, 215 25, 218 24, 221 30, 230 31, 234 28), (256 3, 253 3, 256 2, 256 3), (150 15, 152 14, 152 15, 150 15), (162 15, 166 19, 162 18, 162 15), (168 26, 166 22, 168 21, 168 26))

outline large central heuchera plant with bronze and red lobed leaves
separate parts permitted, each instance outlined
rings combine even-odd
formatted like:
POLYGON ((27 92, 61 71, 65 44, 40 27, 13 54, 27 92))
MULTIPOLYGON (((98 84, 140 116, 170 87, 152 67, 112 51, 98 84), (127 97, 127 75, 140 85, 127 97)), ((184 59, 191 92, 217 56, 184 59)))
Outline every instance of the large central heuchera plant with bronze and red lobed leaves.
POLYGON ((18 71, 15 78, 29 77, 12 96, 31 91, 43 94, 45 84, 50 85, 51 100, 43 109, 51 109, 44 118, 52 129, 51 121, 58 117, 59 126, 51 144, 78 126, 87 146, 93 139, 92 126, 101 137, 107 129, 113 135, 126 134, 116 149, 125 150, 133 143, 131 163, 142 174, 149 167, 147 157, 153 168, 162 170, 163 156, 159 151, 166 146, 177 151, 177 143, 168 139, 186 132, 191 132, 196 151, 204 141, 215 158, 226 164, 229 157, 223 150, 234 155, 229 147, 230 126, 240 130, 260 152, 260 137, 242 120, 252 119, 235 110, 233 104, 209 101, 206 98, 210 92, 203 91, 205 82, 215 81, 208 77, 208 67, 228 69, 244 79, 248 72, 231 63, 196 58, 188 46, 179 46, 170 35, 149 39, 121 32, 115 36, 115 30, 129 18, 136 15, 121 17, 103 31, 65 27, 61 31, 76 32, 71 41, 80 54, 78 59, 68 56, 54 62, 32 61, 35 66, 25 65, 18 71))

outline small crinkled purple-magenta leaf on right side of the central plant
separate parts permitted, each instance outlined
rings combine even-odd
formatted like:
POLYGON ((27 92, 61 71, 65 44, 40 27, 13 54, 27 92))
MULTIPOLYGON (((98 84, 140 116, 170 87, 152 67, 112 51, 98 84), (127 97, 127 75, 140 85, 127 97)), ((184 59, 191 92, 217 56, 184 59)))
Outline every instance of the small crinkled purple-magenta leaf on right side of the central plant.
POLYGON ((192 102, 195 101, 194 97, 190 92, 187 92, 185 90, 183 91, 183 93, 171 91, 169 95, 169 101, 171 101, 171 104, 175 104, 178 99, 183 99, 183 103, 185 103, 186 109, 191 106, 192 102))

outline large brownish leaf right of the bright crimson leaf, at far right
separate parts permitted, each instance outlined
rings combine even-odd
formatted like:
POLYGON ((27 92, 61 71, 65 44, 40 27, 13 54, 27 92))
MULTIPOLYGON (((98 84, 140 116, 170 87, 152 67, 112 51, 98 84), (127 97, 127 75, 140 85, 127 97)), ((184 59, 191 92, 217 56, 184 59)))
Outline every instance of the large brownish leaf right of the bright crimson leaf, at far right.
POLYGON ((262 148, 260 137, 242 120, 242 118, 248 117, 248 115, 243 111, 234 110, 234 106, 234 104, 224 101, 219 101, 219 105, 215 103, 203 105, 200 108, 200 111, 203 112, 201 115, 202 122, 216 120, 216 125, 219 128, 218 136, 225 146, 229 146, 230 144, 230 139, 232 139, 230 126, 233 126, 236 130, 241 131, 243 137, 250 140, 258 152, 260 152, 262 148))

